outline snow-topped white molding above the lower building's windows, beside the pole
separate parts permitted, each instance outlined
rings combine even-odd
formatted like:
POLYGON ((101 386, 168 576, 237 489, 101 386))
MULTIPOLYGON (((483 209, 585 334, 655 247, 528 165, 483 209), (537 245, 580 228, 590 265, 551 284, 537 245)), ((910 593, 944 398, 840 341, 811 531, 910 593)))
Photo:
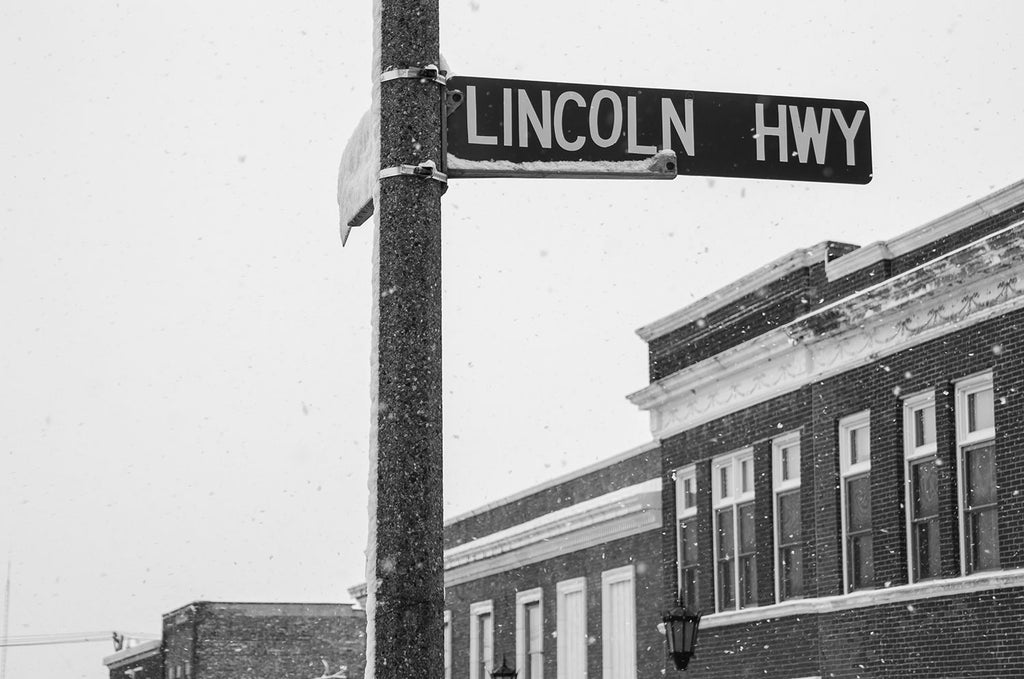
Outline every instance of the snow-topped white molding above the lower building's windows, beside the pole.
POLYGON ((451 587, 662 527, 662 479, 607 493, 444 552, 451 587))

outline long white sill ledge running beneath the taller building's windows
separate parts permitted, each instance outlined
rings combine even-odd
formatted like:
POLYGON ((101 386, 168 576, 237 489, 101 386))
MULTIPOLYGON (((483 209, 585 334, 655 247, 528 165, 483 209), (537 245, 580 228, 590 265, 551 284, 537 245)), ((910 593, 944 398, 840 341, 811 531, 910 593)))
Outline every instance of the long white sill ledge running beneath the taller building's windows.
POLYGON ((700 619, 700 630, 778 620, 792 616, 821 616, 855 608, 910 603, 944 596, 976 594, 1014 587, 1024 587, 1024 568, 988 570, 961 578, 929 580, 886 589, 858 590, 850 594, 791 599, 768 606, 710 613, 700 619))

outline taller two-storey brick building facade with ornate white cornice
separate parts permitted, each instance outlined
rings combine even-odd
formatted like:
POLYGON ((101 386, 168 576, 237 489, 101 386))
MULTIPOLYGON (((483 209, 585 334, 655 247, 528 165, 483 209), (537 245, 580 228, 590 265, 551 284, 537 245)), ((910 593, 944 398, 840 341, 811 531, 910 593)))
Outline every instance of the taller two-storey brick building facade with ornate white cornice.
POLYGON ((641 329, 694 677, 1024 676, 1024 182, 641 329))

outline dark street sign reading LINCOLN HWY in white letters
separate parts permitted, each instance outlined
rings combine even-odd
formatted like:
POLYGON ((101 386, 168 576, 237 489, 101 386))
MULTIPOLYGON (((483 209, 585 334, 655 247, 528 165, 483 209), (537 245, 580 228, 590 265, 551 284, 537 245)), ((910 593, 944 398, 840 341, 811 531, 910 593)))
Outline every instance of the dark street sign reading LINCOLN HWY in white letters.
POLYGON ((862 101, 459 76, 447 105, 453 178, 614 176, 671 150, 682 175, 871 180, 862 101))

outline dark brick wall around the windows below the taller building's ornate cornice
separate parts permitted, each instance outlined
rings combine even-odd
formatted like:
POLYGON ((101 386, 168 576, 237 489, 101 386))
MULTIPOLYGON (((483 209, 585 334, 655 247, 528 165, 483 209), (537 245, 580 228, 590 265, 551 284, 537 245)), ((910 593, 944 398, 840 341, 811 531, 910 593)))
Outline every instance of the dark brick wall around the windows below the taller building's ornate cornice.
MULTIPOLYGON (((991 371, 995 396, 999 558, 1024 567, 1024 310, 908 348, 663 441, 663 474, 696 463, 699 603, 714 610, 711 464, 753 445, 762 605, 773 592, 773 435, 801 430, 804 575, 807 596, 843 594, 838 426, 870 411, 873 587, 907 584, 904 397, 935 394, 939 466, 941 572, 961 575, 954 384, 991 371)), ((675 493, 667 482, 664 523, 675 525, 675 493)), ((675 536, 663 536, 663 591, 676 587, 675 536)), ((767 613, 766 613, 767 614, 767 613)), ((1024 591, 994 590, 907 604, 808 614, 701 633, 693 677, 1020 677, 1024 676, 1024 591)), ((671 672, 671 670, 670 670, 671 672)))

